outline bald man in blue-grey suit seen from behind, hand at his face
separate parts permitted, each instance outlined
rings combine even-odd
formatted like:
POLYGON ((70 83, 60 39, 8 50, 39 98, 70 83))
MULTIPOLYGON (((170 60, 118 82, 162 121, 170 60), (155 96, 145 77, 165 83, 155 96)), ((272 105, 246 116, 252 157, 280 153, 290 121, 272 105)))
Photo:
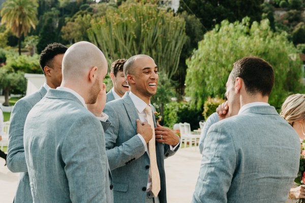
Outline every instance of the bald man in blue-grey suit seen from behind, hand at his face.
POLYGON ((34 202, 113 202, 101 124, 106 74, 102 51, 78 42, 65 53, 60 87, 28 113, 24 151, 34 202))

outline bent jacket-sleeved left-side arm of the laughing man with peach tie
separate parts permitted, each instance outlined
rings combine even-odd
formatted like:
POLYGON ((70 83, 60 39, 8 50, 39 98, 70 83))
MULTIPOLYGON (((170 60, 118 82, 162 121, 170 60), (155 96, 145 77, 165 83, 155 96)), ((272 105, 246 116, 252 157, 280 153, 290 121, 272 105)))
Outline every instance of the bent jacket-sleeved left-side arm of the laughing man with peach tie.
MULTIPOLYGON (((109 120, 111 121, 111 125, 105 132, 105 140, 110 170, 114 170, 115 168, 126 165, 127 161, 131 159, 140 158, 145 153, 145 149, 141 139, 139 136, 137 136, 137 134, 135 134, 130 140, 124 142, 120 146, 116 146, 117 137, 119 136, 119 123, 122 121, 119 120, 119 116, 108 105, 106 105, 104 113, 109 116, 109 120)), ((133 130, 131 125, 130 130, 133 130)), ((124 136, 124 134, 121 134, 120 136, 124 136)))

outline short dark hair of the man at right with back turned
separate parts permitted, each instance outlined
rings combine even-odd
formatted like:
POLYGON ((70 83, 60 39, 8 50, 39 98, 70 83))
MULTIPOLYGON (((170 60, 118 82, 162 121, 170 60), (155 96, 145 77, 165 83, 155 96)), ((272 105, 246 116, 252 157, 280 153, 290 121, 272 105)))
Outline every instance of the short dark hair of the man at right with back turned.
POLYGON ((275 83, 275 73, 272 66, 259 57, 244 57, 233 64, 231 72, 233 83, 237 77, 245 82, 249 94, 261 93, 269 96, 275 83))

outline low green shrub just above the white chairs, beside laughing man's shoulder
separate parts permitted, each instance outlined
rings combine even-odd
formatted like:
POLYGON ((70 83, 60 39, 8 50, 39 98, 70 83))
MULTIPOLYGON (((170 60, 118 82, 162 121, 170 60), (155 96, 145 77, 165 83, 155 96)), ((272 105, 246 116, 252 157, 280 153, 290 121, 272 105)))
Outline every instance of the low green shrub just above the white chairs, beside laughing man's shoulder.
POLYGON ((189 103, 172 101, 164 107, 163 124, 172 127, 175 123, 188 122, 191 129, 198 129, 199 121, 202 120, 201 112, 189 103))

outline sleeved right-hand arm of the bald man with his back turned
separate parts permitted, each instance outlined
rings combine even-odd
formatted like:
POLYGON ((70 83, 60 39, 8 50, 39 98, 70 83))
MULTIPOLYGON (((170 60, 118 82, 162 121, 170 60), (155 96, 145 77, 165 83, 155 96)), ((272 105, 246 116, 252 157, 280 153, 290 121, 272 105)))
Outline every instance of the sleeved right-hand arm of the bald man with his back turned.
POLYGON ((106 202, 104 131, 96 118, 81 117, 71 126, 62 144, 62 158, 71 201, 106 202))

